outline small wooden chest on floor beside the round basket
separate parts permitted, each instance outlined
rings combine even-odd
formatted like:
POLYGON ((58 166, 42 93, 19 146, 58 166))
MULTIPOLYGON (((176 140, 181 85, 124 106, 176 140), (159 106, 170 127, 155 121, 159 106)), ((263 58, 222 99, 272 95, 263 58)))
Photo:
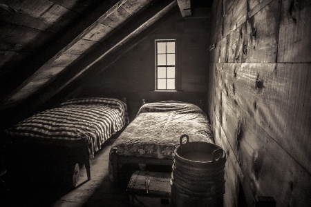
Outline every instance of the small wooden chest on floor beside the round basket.
POLYGON ((169 206, 171 173, 136 171, 131 176, 127 192, 131 206, 169 206))

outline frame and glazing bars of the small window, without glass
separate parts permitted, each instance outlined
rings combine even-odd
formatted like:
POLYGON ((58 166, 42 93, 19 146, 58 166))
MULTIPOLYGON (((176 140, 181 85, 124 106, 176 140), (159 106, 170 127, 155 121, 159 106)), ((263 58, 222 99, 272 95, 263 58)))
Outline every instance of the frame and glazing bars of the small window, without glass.
MULTIPOLYGON (((177 91, 178 90, 178 81, 177 81, 177 77, 178 77, 178 70, 177 70, 177 40, 176 39, 156 39, 155 40, 155 90, 156 91, 177 91), (173 42, 175 43, 175 52, 171 53, 175 55, 175 64, 174 65, 158 65, 158 43, 159 42, 173 42), (158 68, 159 67, 165 67, 166 68, 166 72, 167 72, 167 67, 174 67, 175 68, 175 75, 174 75, 174 89, 167 89, 167 84, 165 86, 165 89, 158 89, 158 68)), ((167 53, 167 51, 165 52, 165 54, 170 54, 167 53)), ((167 83, 167 77, 165 77, 166 83, 167 83)))

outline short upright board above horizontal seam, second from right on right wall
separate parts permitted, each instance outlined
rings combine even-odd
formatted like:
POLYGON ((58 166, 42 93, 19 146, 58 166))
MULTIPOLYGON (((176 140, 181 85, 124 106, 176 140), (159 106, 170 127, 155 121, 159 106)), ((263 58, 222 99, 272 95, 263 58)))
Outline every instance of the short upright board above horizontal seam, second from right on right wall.
POLYGON ((247 20, 246 62, 276 62, 280 9, 281 2, 274 0, 247 20))

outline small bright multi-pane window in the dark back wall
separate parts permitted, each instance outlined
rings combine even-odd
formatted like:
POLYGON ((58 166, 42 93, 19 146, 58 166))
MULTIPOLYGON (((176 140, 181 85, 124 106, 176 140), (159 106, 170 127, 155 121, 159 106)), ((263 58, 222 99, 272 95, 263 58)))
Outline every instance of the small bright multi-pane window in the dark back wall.
POLYGON ((156 40, 156 90, 176 90, 176 40, 156 40))

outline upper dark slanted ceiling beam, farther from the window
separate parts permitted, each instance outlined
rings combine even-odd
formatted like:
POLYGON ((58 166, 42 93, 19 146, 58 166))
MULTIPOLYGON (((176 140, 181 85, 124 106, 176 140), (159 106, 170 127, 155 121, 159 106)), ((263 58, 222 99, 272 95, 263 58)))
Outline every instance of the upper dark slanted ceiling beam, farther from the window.
MULTIPOLYGON (((15 92, 18 92, 21 88, 26 86, 28 83, 27 79, 39 70, 41 66, 55 61, 63 52, 93 29, 98 19, 104 19, 109 16, 111 12, 122 6, 126 1, 128 0, 95 1, 93 6, 86 10, 85 14, 79 17, 70 28, 59 32, 55 39, 51 40, 48 45, 39 48, 37 54, 28 59, 28 64, 22 66, 23 72, 21 72, 18 77, 15 77, 15 81, 12 84, 8 85, 9 88, 7 88, 7 91, 11 92, 11 95, 14 95, 15 92)), ((10 99, 10 95, 3 103, 8 99, 10 99)))

